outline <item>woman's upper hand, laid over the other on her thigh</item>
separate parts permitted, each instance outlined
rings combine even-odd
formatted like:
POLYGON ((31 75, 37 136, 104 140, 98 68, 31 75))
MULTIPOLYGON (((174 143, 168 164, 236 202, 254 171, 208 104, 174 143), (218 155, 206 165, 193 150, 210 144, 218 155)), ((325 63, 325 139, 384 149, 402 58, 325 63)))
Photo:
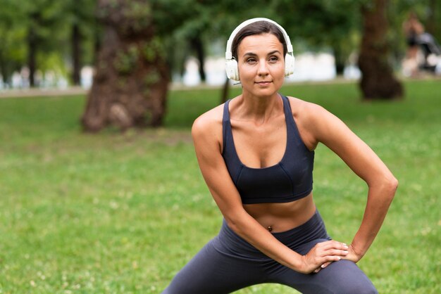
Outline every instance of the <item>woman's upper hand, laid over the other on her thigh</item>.
POLYGON ((341 260, 346 256, 349 247, 338 241, 325 241, 317 243, 306 255, 302 255, 302 266, 298 270, 302 274, 318 273, 331 262, 341 260))

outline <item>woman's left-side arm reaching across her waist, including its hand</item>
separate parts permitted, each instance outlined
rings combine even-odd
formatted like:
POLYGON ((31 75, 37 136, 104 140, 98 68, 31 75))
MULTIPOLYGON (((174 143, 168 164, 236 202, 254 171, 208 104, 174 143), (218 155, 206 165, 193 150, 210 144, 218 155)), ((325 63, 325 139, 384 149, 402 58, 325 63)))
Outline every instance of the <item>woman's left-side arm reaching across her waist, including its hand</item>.
POLYGON ((280 243, 268 230, 249 215, 233 184, 221 155, 222 122, 202 115, 193 124, 192 137, 199 167, 216 204, 228 226, 268 257, 295 271, 310 273, 325 262, 340 260, 346 255, 344 245, 328 241, 309 256, 295 253, 280 243))

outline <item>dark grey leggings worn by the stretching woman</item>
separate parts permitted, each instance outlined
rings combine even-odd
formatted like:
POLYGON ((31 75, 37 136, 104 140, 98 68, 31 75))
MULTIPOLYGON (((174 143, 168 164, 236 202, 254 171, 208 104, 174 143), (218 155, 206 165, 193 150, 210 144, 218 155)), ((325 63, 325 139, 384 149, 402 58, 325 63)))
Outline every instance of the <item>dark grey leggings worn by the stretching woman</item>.
MULTIPOLYGON (((302 255, 330 240, 318 212, 305 224, 273 236, 302 255)), ((163 294, 232 293, 259 283, 280 283, 301 293, 378 293, 354 262, 340 260, 317 274, 300 274, 263 255, 224 221, 218 236, 178 272, 163 294)))

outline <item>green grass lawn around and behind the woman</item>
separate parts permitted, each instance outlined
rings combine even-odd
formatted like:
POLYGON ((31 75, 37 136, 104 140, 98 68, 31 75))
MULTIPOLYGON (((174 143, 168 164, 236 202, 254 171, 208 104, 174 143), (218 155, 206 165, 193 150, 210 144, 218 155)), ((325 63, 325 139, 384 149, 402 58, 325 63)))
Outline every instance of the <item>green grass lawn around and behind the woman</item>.
MULTIPOLYGON (((361 103, 356 84, 282 93, 338 115, 399 179, 359 262, 380 293, 440 293, 441 83, 405 87, 406 99, 392 103, 361 103)), ((190 138, 194 118, 219 95, 172 91, 166 127, 97 135, 80 132, 84 96, 1 99, 0 293, 160 293, 221 224, 190 138)), ((330 235, 350 242, 366 185, 323 146, 314 197, 330 235)))

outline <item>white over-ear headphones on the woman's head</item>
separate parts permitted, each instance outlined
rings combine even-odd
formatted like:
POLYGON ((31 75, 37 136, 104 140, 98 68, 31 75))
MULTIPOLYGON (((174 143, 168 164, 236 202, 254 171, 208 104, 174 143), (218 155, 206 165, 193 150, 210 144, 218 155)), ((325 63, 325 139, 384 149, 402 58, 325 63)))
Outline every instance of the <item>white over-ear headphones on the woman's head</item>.
POLYGON ((294 73, 294 55, 292 53, 292 44, 290 41, 290 37, 288 37, 285 29, 280 26, 278 23, 275 23, 274 20, 270 20, 268 18, 251 18, 250 20, 245 20, 243 23, 241 23, 239 26, 237 26, 235 28, 234 31, 232 31, 231 35, 230 35, 230 39, 228 39, 227 41, 227 49, 225 51, 225 58, 227 59, 225 62, 225 70, 227 72, 227 77, 235 80, 235 81, 239 81, 239 70, 237 68, 237 60, 235 60, 235 58, 232 57, 232 52, 231 52, 231 46, 232 46, 232 41, 235 39, 236 34, 242 30, 243 27, 246 27, 247 25, 249 25, 250 23, 256 23, 258 21, 266 21, 268 23, 272 23, 273 25, 276 25, 280 31, 283 34, 283 37, 285 38, 285 42, 286 42, 286 46, 287 46, 287 53, 285 55, 285 77, 287 77, 288 75, 292 75, 294 73))

